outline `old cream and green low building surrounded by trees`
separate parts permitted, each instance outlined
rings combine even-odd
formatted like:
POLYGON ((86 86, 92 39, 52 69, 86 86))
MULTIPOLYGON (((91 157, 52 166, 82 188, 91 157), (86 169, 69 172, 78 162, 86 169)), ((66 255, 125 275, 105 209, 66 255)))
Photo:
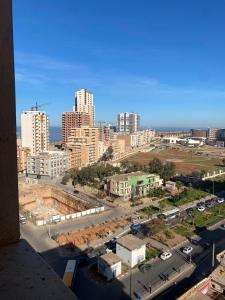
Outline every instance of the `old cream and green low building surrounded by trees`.
POLYGON ((105 190, 121 200, 129 200, 134 197, 145 197, 151 189, 161 187, 162 184, 163 180, 156 174, 133 172, 110 177, 105 190))

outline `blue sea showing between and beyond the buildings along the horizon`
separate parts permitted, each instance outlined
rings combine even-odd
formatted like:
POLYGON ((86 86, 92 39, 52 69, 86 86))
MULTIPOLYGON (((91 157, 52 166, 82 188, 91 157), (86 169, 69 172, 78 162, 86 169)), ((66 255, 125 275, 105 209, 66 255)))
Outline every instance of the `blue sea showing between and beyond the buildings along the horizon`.
MULTIPOLYGON (((147 129, 148 127, 143 126, 142 129, 147 129)), ((156 131, 188 131, 190 128, 187 127, 152 127, 156 131)), ((198 128, 202 129, 202 128, 198 128)), ((21 136, 21 127, 17 126, 16 128, 17 137, 21 136)), ((62 141, 62 128, 60 126, 51 126, 50 127, 50 142, 61 142, 62 141)))

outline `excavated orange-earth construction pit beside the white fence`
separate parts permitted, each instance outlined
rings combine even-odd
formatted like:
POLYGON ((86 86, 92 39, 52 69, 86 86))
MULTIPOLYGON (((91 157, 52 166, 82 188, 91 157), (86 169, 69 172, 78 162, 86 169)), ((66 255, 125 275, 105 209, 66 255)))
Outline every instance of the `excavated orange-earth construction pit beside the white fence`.
POLYGON ((19 185, 20 210, 30 219, 53 220, 94 208, 94 205, 50 185, 19 185))

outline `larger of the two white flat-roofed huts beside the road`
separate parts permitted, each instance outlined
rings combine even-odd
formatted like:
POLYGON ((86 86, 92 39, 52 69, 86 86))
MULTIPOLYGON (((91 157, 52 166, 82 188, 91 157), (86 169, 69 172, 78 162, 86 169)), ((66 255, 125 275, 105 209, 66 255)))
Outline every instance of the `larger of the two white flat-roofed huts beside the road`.
POLYGON ((131 268, 145 260, 145 252, 145 242, 132 234, 117 240, 116 254, 131 268))

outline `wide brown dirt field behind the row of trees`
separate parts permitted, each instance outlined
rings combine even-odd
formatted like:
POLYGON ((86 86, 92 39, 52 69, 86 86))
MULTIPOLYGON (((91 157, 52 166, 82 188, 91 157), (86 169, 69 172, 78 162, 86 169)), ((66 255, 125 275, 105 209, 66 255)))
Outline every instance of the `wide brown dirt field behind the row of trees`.
POLYGON ((166 149, 162 151, 140 152, 127 160, 138 161, 139 163, 147 165, 154 157, 162 161, 171 161, 176 164, 178 172, 191 173, 192 171, 212 171, 221 165, 221 159, 210 158, 204 154, 200 154, 198 149, 166 149))

